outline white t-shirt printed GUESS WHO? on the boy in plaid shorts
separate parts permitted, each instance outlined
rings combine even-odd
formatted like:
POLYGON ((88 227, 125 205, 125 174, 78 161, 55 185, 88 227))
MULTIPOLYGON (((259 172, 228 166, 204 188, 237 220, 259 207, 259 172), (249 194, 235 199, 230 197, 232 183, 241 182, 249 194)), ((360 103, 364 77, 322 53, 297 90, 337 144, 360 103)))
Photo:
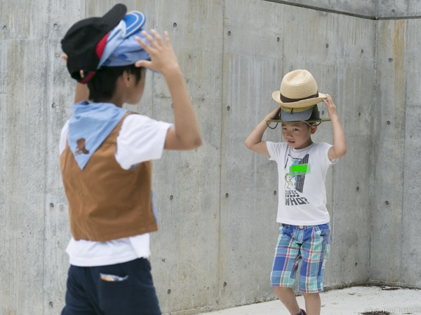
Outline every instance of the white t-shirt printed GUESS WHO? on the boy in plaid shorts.
POLYGON ((320 225, 330 221, 326 209, 326 173, 330 144, 311 144, 295 149, 285 142, 266 143, 269 160, 278 164, 279 202, 276 222, 290 225, 320 225), (309 174, 297 174, 292 165, 307 165, 309 174), (292 176, 291 176, 292 175, 292 176))

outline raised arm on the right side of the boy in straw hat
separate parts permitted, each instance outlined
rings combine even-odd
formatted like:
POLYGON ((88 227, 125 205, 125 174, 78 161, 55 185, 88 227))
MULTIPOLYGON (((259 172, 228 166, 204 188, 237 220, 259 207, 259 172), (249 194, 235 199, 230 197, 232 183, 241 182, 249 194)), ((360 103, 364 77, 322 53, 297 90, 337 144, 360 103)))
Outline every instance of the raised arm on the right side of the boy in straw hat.
POLYGON ((347 153, 347 142, 345 141, 344 130, 340 124, 338 111, 336 106, 333 104, 333 99, 329 94, 326 94, 326 99, 323 100, 324 104, 328 108, 329 118, 332 120, 333 128, 333 147, 328 151, 329 160, 335 160, 342 158, 347 153))

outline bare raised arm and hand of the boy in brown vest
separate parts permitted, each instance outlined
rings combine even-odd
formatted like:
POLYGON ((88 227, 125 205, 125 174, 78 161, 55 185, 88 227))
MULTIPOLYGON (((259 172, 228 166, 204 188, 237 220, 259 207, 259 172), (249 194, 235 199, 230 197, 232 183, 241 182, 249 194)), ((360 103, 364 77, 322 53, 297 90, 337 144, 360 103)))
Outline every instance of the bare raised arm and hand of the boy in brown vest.
POLYGON ((149 36, 146 31, 142 34, 152 47, 140 38, 136 38, 142 48, 151 55, 151 61, 141 60, 136 62, 136 66, 145 66, 162 73, 173 99, 175 128, 168 130, 163 148, 166 150, 192 150, 201 145, 201 134, 170 37, 168 32, 165 32, 164 42, 154 29, 151 30, 151 33, 154 38, 149 36))

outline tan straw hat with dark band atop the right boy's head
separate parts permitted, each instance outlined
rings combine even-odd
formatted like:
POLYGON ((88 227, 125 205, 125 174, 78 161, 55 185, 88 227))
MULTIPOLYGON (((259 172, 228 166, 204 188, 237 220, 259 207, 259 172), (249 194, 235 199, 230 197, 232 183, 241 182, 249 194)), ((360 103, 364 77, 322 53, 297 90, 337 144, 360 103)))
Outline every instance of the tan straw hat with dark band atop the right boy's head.
POLYGON ((272 93, 282 109, 290 113, 307 111, 312 106, 326 99, 319 93, 316 80, 307 70, 294 70, 286 73, 281 82, 281 89, 272 93))

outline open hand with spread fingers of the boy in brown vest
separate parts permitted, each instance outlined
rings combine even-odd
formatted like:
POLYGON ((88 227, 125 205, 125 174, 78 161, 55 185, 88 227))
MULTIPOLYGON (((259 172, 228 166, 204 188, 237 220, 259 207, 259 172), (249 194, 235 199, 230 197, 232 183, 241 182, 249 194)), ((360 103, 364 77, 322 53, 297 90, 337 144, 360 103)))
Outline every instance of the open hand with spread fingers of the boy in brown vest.
POLYGON ((170 36, 168 35, 168 31, 164 31, 164 42, 161 36, 154 29, 151 30, 151 33, 154 38, 150 36, 147 31, 142 31, 143 36, 147 38, 152 47, 147 45, 147 43, 142 41, 142 39, 136 37, 136 41, 138 41, 142 48, 145 49, 151 56, 151 61, 140 60, 136 62, 135 65, 145 66, 146 68, 162 73, 163 76, 167 76, 174 70, 179 69, 177 57, 175 57, 173 45, 171 45, 170 36))

